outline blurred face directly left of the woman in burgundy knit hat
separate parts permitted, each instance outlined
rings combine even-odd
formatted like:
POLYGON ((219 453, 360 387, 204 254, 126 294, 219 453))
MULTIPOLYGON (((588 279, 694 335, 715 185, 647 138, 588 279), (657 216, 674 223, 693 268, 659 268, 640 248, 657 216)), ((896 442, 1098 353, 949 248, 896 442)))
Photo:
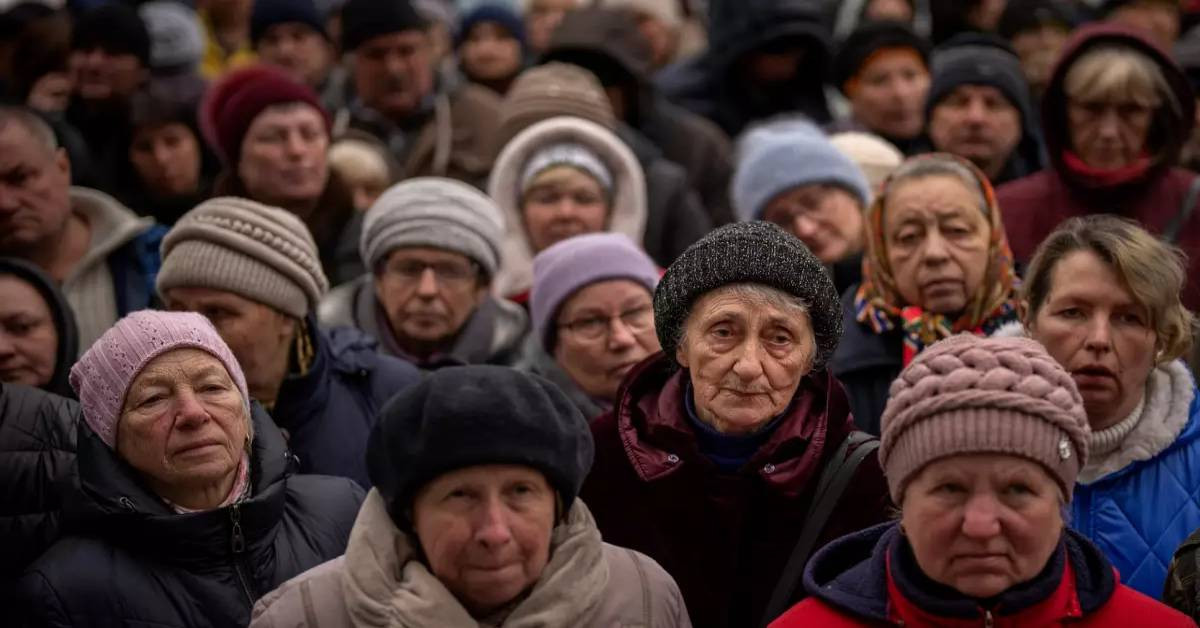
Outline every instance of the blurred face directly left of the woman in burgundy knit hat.
POLYGON ((187 125, 138 128, 130 143, 130 161, 156 197, 191 195, 200 185, 200 143, 187 125))

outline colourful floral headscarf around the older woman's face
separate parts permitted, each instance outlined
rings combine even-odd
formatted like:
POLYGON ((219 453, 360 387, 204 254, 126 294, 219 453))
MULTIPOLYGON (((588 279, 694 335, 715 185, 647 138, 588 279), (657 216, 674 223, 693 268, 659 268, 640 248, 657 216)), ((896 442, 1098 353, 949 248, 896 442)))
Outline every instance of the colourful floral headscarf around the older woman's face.
POLYGON ((1016 316, 1016 287, 1020 280, 1013 269, 1013 251, 1008 247, 1004 223, 1000 216, 996 195, 988 178, 968 161, 935 152, 917 160, 953 160, 971 171, 983 190, 988 204, 986 219, 991 237, 988 241, 988 270, 976 293, 970 297, 962 315, 952 321, 944 315, 904 303, 888 263, 883 237, 883 205, 892 187, 892 179, 866 213, 866 255, 863 257, 863 283, 854 295, 854 317, 876 334, 904 330, 904 364, 907 365, 926 346, 962 331, 988 335, 1016 316))

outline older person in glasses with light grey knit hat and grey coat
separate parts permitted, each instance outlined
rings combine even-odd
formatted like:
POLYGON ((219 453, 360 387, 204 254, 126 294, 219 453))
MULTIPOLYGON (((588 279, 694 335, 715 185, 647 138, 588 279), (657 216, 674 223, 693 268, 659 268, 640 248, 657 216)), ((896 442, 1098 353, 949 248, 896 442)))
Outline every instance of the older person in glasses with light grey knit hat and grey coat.
POLYGON ((503 237, 500 209, 469 185, 397 184, 364 220, 368 274, 330 293, 320 319, 372 334, 380 351, 421 369, 514 364, 528 317, 490 291, 503 237))

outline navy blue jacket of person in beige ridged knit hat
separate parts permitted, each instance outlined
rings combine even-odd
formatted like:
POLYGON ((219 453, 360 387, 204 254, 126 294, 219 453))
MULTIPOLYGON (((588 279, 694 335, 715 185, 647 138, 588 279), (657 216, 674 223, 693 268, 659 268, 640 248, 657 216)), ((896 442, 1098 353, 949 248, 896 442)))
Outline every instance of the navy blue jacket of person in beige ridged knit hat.
POLYGON ((379 408, 420 378, 416 367, 383 355, 371 336, 350 328, 317 327, 312 366, 288 376, 271 417, 288 433, 301 473, 341 476, 371 486, 367 437, 379 408))

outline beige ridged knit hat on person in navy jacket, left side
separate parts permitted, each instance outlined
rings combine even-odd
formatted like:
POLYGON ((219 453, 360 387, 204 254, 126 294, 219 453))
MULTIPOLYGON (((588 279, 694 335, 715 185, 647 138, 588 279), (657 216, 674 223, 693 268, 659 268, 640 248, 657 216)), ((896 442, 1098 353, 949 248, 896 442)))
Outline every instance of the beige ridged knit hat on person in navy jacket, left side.
POLYGON ((158 295, 227 291, 304 318, 329 291, 317 244, 300 219, 253 201, 220 197, 184 214, 162 241, 158 295))

